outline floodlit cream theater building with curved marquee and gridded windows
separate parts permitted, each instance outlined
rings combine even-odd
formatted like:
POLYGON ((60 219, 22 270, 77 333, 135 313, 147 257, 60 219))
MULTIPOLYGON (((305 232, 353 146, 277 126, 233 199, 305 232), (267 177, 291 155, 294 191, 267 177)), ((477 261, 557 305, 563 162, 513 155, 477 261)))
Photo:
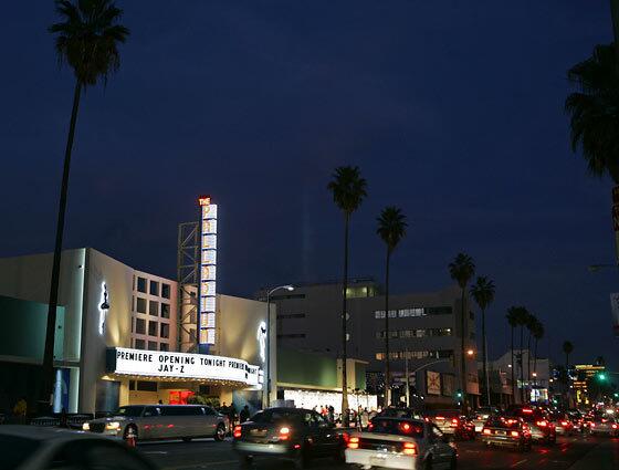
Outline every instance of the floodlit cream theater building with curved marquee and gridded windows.
MULTIPOLYGON (((10 409, 21 396, 30 403, 39 396, 51 265, 51 253, 0 259, 0 408, 10 409)), ((259 407, 266 357, 273 364, 272 383, 276 380, 274 337, 271 355, 265 352, 265 304, 213 294, 210 345, 197 354, 198 347, 180 347, 183 338, 197 341, 199 327, 191 331, 187 318, 180 322, 178 292, 176 281, 92 248, 64 251, 55 410, 185 403, 193 394, 259 407)))

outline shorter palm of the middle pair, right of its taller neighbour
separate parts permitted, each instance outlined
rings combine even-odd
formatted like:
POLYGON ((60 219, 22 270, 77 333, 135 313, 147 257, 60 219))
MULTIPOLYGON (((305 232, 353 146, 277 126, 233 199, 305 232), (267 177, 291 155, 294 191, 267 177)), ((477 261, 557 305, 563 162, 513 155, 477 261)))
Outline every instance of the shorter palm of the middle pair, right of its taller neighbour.
POLYGON ((385 399, 387 405, 391 404, 391 388, 389 374, 389 261, 391 253, 406 236, 406 216, 395 206, 382 209, 377 219, 378 228, 376 233, 387 246, 387 261, 385 269, 385 399))

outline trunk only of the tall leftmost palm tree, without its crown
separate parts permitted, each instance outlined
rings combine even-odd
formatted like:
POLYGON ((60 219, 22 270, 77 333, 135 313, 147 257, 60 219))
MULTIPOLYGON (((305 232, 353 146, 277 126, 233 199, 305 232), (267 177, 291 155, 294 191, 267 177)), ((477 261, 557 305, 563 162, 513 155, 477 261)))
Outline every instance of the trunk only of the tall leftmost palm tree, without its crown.
MULTIPOLYGON (((60 284, 60 263, 62 258, 62 239, 64 234, 64 216, 66 213, 66 197, 69 192, 69 171, 71 169, 71 152, 73 150, 73 138, 75 136, 75 124, 77 122, 77 109, 80 108, 80 96, 82 84, 75 82, 73 92, 73 108, 71 109, 71 122, 69 124, 69 136, 64 150, 64 167, 62 171, 62 186, 60 190, 59 215, 56 222, 56 240, 54 244, 54 259, 52 262, 52 279, 50 283, 50 301, 48 302, 48 324, 45 328, 45 349, 43 353, 43 387, 40 395, 41 405, 46 407, 50 403, 54 388, 54 338, 56 330, 56 307, 60 284)), ((41 410, 43 411, 43 410, 41 410)))

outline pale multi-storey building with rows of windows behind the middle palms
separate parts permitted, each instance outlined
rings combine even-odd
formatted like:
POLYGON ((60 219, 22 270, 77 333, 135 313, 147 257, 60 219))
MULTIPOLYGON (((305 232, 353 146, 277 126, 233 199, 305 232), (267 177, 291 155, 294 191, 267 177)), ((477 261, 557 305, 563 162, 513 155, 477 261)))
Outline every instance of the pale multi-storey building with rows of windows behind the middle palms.
MULTIPOLYGON (((256 294, 261 301, 265 297, 265 290, 256 294)), ((347 297, 348 357, 368 363, 368 391, 384 394, 385 296, 373 279, 357 279, 349 282, 347 297)), ((342 283, 295 285, 292 292, 276 292, 271 302, 277 305, 277 341, 282 347, 342 356, 342 283)), ((475 321, 468 299, 465 312, 465 344, 472 349, 465 359, 466 390, 475 401, 475 321)), ((460 289, 390 295, 389 318, 395 399, 406 394, 408 359, 413 395, 423 397, 427 404, 453 404, 462 361, 460 289)))

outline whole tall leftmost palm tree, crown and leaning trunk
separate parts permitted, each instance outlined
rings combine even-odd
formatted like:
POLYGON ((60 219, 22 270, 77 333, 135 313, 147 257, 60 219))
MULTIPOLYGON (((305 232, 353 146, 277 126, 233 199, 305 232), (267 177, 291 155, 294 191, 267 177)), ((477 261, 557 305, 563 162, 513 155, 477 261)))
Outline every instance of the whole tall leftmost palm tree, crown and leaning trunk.
POLYGON ((61 22, 49 28, 55 34, 55 49, 60 63, 67 63, 75 75, 73 107, 69 125, 69 137, 64 152, 64 167, 59 203, 54 259, 45 333, 45 352, 43 358, 43 398, 48 401, 53 387, 53 353, 56 322, 57 291, 60 281, 60 263, 62 239, 64 233, 64 216, 69 190, 69 170, 71 152, 75 135, 75 123, 82 90, 94 86, 97 82, 107 83, 108 76, 120 66, 118 45, 129 35, 129 30, 118 24, 123 11, 111 0, 56 0, 56 13, 61 22))

